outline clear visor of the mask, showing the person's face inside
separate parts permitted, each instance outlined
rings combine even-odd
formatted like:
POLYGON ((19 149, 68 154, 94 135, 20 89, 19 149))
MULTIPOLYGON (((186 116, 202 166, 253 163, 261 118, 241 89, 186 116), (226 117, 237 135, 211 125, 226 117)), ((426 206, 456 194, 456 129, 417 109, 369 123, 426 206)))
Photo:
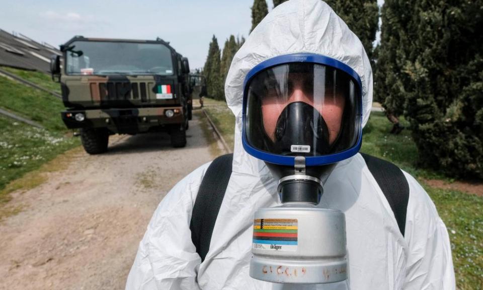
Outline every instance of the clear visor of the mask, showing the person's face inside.
POLYGON ((345 71, 317 63, 260 71, 248 83, 247 141, 282 156, 324 156, 352 148, 361 120, 355 84, 345 71))

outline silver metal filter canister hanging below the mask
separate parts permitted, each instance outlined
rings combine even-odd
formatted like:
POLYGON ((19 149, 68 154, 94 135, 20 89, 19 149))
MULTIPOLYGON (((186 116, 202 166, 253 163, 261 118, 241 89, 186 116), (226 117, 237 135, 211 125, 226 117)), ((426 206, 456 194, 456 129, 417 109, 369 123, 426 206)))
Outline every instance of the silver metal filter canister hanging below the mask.
POLYGON ((347 279, 345 216, 311 205, 255 212, 250 276, 277 283, 347 279))

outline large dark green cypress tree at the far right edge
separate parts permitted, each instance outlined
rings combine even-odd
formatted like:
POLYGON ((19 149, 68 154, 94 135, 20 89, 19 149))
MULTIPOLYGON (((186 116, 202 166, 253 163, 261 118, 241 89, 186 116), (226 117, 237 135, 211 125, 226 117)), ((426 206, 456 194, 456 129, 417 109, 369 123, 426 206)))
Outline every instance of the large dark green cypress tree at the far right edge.
POLYGON ((483 1, 420 0, 414 7, 418 33, 403 74, 420 163, 483 178, 483 1))

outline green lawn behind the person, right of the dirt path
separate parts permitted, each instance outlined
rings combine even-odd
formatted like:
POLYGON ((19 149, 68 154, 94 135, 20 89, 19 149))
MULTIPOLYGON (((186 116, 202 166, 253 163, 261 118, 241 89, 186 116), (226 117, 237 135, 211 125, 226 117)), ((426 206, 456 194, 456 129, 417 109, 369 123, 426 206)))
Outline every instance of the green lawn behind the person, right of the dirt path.
MULTIPOLYGON (((205 110, 232 146, 233 114, 225 102, 205 100, 205 110)), ((409 125, 404 118, 401 123, 409 125)), ((448 228, 457 288, 483 289, 483 197, 426 185, 424 179, 454 179, 437 171, 417 168, 418 152, 411 132, 405 129, 399 135, 392 135, 389 134, 391 128, 392 124, 383 113, 372 112, 363 131, 361 151, 396 164, 422 183, 448 228)))

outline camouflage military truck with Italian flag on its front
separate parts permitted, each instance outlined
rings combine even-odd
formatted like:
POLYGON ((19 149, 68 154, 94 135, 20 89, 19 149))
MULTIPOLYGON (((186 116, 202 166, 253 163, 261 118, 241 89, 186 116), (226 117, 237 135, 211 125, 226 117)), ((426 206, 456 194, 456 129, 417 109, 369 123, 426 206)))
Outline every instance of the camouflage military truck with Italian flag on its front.
POLYGON ((186 146, 190 68, 169 42, 75 36, 60 50, 50 70, 66 107, 61 117, 79 129, 87 153, 106 152, 112 134, 166 131, 173 147, 186 146))

